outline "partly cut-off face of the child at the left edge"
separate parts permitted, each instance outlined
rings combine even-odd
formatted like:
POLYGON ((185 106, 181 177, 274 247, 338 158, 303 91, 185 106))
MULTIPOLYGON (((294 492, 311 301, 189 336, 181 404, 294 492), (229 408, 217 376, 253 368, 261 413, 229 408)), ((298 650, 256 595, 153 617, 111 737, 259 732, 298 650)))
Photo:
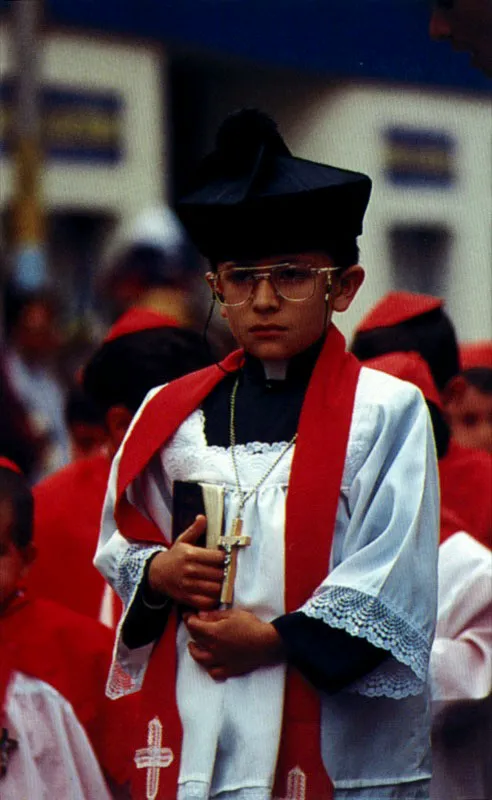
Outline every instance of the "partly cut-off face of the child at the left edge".
POLYGON ((12 540, 14 513, 12 503, 0 499, 0 614, 15 596, 33 558, 33 547, 15 546, 12 540))

